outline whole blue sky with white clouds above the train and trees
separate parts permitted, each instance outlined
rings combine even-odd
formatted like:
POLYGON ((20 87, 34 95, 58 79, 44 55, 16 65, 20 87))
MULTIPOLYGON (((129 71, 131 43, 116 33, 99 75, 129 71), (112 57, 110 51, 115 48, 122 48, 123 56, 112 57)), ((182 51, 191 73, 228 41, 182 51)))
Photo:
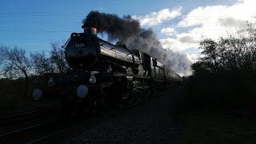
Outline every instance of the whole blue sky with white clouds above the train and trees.
POLYGON ((82 19, 90 10, 98 10, 120 17, 130 14, 142 27, 151 27, 164 48, 194 61, 203 38, 217 39, 223 30, 254 22, 253 6, 254 0, 1 0, 0 46, 49 51, 50 42, 82 32, 82 19))

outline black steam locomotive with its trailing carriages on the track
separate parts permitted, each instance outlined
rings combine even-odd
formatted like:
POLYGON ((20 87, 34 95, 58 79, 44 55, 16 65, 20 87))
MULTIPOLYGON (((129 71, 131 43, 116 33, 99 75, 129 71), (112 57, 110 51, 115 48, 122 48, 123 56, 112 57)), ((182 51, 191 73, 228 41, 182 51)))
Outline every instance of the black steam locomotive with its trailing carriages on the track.
POLYGON ((134 102, 182 82, 156 58, 129 50, 97 37, 97 29, 82 26, 84 33, 73 33, 63 46, 72 70, 47 75, 47 86, 33 91, 33 97, 54 95, 68 110, 98 111, 134 102))

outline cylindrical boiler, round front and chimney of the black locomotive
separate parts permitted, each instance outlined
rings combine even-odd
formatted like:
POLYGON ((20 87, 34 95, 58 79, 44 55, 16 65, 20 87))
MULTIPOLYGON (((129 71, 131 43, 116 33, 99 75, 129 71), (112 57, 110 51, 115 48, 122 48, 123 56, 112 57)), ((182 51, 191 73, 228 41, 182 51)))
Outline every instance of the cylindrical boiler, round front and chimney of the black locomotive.
POLYGON ((114 66, 114 70, 126 73, 127 67, 138 66, 141 59, 135 56, 122 42, 112 45, 98 38, 97 29, 82 26, 85 33, 73 33, 66 42, 66 62, 74 70, 99 71, 114 66))

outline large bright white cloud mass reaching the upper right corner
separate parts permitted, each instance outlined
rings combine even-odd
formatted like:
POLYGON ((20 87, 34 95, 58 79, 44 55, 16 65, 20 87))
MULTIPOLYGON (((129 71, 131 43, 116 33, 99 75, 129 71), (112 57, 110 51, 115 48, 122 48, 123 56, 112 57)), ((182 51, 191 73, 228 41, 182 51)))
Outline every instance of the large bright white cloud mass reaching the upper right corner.
MULTIPOLYGON (((178 29, 166 27, 161 30, 162 34, 169 34, 167 31, 176 32, 172 38, 160 40, 166 49, 186 53, 187 50, 198 49, 199 42, 205 38, 218 40, 219 37, 226 37, 227 32, 234 33, 246 26, 246 22, 256 22, 255 0, 238 1, 232 6, 204 6, 198 7, 186 14, 180 22, 178 29), (182 33, 179 33, 182 30, 182 33)), ((192 62, 198 58, 198 53, 186 53, 192 62)))

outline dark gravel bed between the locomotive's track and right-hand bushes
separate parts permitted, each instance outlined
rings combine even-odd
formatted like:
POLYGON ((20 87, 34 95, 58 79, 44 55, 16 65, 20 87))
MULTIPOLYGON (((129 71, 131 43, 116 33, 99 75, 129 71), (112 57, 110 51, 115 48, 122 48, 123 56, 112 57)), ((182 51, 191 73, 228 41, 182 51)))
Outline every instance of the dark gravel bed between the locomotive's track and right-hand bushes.
POLYGON ((171 97, 178 94, 166 90, 99 122, 85 122, 57 143, 178 143, 182 122, 174 122, 170 110, 171 97))

